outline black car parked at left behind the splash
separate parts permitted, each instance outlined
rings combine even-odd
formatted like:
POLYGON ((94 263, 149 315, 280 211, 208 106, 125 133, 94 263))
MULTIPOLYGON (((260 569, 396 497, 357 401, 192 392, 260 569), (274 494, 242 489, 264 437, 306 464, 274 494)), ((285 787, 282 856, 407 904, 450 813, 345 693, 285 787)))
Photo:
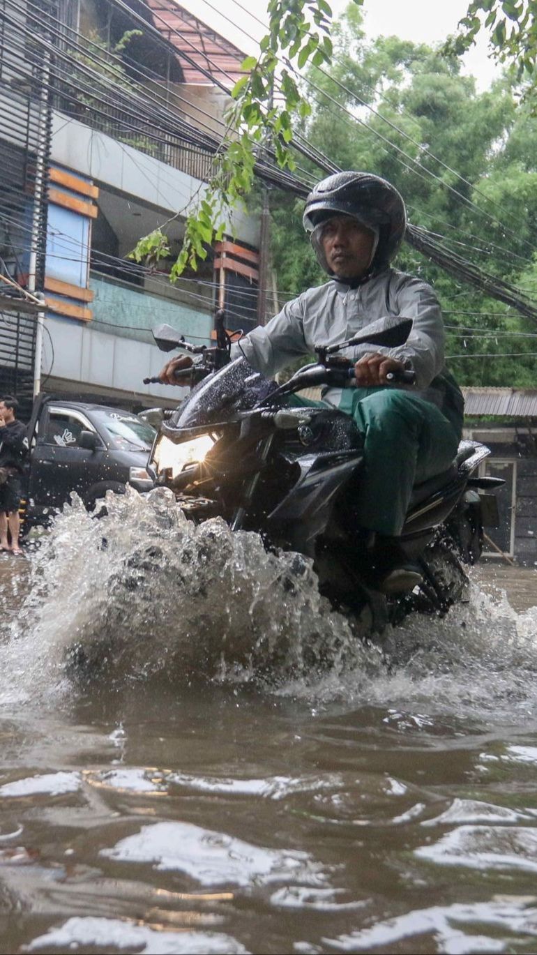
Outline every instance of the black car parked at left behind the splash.
POLYGON ((24 530, 46 525, 75 491, 88 509, 125 485, 149 491, 146 470, 155 430, 136 414, 38 395, 28 426, 30 456, 21 506, 24 530))

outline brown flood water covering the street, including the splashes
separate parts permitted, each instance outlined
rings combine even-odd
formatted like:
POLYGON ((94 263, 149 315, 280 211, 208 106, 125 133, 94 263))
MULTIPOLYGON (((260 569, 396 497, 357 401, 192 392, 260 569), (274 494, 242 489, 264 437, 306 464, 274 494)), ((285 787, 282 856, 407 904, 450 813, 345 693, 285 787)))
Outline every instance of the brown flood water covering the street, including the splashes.
POLYGON ((0 560, 0 951, 537 951, 537 608, 386 658, 308 563, 109 508, 0 560))

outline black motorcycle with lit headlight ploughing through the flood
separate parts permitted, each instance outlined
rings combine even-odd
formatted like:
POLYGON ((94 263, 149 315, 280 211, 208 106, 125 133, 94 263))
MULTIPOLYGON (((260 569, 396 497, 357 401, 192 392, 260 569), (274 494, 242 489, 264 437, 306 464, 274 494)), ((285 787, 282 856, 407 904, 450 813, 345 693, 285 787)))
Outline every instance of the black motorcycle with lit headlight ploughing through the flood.
MULTIPOLYGON (((367 555, 358 552, 353 534, 363 465, 354 421, 330 407, 292 406, 292 395, 305 388, 349 383, 354 365, 338 352, 362 344, 400 346, 412 321, 381 319, 346 342, 318 346, 317 360, 281 385, 244 357, 231 360, 232 334, 222 310, 215 325, 217 343, 210 349, 186 342, 170 326, 153 332, 161 350, 198 356, 190 368, 176 371, 178 384, 190 386, 177 410, 141 413, 160 425, 150 470, 184 514, 195 521, 223 518, 233 531, 260 534, 267 548, 311 558, 321 593, 359 620, 367 636, 413 611, 444 615, 464 600, 466 568, 483 549, 483 521, 497 522, 494 495, 479 492, 503 481, 476 474, 489 449, 462 441, 445 473, 414 488, 400 544, 419 565, 421 583, 411 593, 385 597, 368 583, 367 555)), ((393 384, 413 380, 413 371, 391 376, 393 384)))

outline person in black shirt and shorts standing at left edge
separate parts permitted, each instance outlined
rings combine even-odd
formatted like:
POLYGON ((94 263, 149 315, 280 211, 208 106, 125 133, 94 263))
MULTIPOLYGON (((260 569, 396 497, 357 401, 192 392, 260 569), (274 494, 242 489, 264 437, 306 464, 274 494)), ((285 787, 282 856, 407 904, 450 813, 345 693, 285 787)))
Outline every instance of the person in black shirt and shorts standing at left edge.
POLYGON ((0 400, 0 551, 19 555, 21 477, 28 437, 22 421, 16 419, 17 407, 10 394, 0 400))

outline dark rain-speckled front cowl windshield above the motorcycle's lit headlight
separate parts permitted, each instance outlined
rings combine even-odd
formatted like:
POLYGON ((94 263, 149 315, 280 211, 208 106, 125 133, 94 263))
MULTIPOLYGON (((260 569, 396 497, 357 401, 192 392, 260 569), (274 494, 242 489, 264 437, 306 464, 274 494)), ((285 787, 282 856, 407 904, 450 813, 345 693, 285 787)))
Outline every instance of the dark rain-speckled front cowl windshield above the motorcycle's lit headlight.
POLYGON ((169 429, 200 428, 229 421, 238 412, 249 411, 275 391, 274 381, 254 371, 245 358, 236 358, 220 371, 207 375, 166 422, 169 429))

